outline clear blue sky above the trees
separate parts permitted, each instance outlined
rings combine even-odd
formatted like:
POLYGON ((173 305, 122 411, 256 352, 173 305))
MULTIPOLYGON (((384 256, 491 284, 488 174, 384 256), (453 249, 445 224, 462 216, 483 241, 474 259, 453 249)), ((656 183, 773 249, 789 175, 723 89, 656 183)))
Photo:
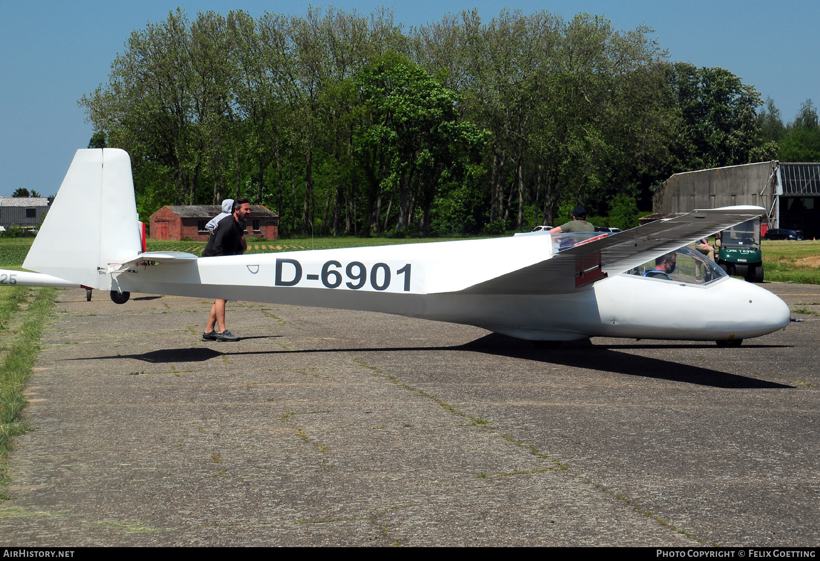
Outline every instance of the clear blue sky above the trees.
MULTIPOLYGON (((303 14, 309 2, 19 2, 0 0, 0 195, 17 187, 54 194, 77 148, 92 134, 76 101, 104 83, 131 30, 181 6, 227 13, 244 9, 303 14)), ((672 61, 721 66, 771 96, 791 120, 806 98, 820 102, 820 2, 333 2, 370 12, 394 7, 396 21, 421 25, 447 11, 503 7, 607 16, 617 28, 649 25, 672 61)), ((314 5, 324 6, 321 2, 314 5)))

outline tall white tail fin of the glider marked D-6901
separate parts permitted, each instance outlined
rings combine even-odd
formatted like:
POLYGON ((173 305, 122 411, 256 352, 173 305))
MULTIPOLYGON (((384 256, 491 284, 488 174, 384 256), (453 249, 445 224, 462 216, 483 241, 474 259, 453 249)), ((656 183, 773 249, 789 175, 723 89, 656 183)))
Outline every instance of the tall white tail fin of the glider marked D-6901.
POLYGON ((110 290, 115 263, 142 250, 128 153, 77 150, 23 267, 110 290))

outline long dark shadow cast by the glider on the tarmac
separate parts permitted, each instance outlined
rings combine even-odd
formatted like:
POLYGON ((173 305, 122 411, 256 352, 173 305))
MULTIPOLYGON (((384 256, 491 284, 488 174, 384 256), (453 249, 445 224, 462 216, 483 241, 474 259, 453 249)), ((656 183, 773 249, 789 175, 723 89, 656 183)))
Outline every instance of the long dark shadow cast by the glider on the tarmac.
MULTIPOLYGON (((244 337, 243 339, 264 339, 265 337, 244 337)), ((700 345, 613 345, 627 349, 668 349, 688 348, 699 349, 700 345)), ((714 346, 709 349, 715 349, 714 346)), ((749 345, 751 346, 751 345, 749 345)), ((770 346, 770 345, 757 345, 770 346)), ((780 345, 775 345, 780 346, 780 345)), ((742 349, 742 347, 740 348, 742 349)), ((608 345, 590 344, 588 340, 579 343, 569 343, 558 349, 535 349, 529 341, 522 341, 491 333, 467 344, 450 347, 386 347, 386 348, 356 348, 356 349, 304 349, 304 350, 263 350, 230 352, 225 344, 219 344, 216 349, 211 347, 196 347, 191 349, 161 349, 140 354, 122 354, 107 357, 69 358, 67 360, 104 360, 112 358, 133 358, 146 363, 202 363, 223 355, 263 355, 263 354, 307 354, 307 353, 385 353, 408 351, 456 351, 494 354, 497 356, 523 358, 547 364, 562 364, 567 367, 587 368, 601 372, 613 372, 627 376, 642 376, 658 380, 678 381, 686 384, 708 385, 716 388, 732 389, 782 389, 792 388, 793 385, 778 384, 777 382, 758 380, 749 376, 740 376, 721 372, 711 368, 696 367, 689 364, 673 363, 660 358, 642 357, 631 353, 623 353, 608 348, 608 345), (220 350, 217 350, 220 349, 220 350), (225 350, 221 350, 225 349, 225 350)))

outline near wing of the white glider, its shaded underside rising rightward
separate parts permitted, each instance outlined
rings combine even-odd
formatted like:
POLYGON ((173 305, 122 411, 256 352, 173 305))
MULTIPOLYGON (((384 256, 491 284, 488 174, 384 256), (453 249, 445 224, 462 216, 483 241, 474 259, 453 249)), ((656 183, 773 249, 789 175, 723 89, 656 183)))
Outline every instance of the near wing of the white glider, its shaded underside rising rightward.
POLYGON ((603 278, 629 271, 692 242, 760 217, 765 208, 708 208, 649 222, 604 238, 577 244, 551 259, 472 285, 463 294, 563 294, 576 290, 579 276, 603 278))

